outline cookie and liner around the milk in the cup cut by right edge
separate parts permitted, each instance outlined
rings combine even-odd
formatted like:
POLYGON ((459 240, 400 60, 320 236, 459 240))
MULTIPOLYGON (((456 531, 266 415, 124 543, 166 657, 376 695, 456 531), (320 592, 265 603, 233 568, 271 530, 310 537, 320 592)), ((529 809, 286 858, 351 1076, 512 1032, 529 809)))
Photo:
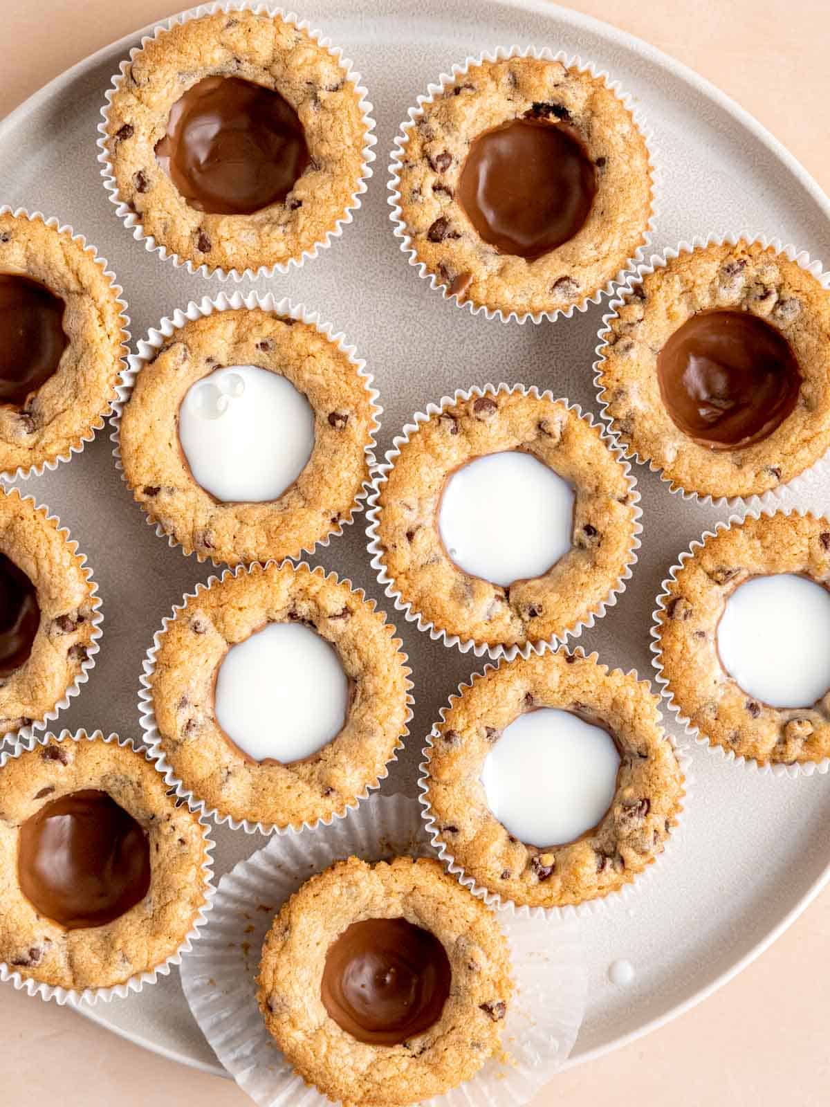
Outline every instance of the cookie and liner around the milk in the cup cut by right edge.
POLYGON ((750 576, 830 579, 830 520, 765 508, 705 530, 668 570, 656 599, 652 664, 667 706, 698 745, 751 773, 796 778, 830 768, 830 692, 811 707, 771 707, 723 669, 717 624, 750 576), (826 545, 827 544, 827 545, 826 545))

